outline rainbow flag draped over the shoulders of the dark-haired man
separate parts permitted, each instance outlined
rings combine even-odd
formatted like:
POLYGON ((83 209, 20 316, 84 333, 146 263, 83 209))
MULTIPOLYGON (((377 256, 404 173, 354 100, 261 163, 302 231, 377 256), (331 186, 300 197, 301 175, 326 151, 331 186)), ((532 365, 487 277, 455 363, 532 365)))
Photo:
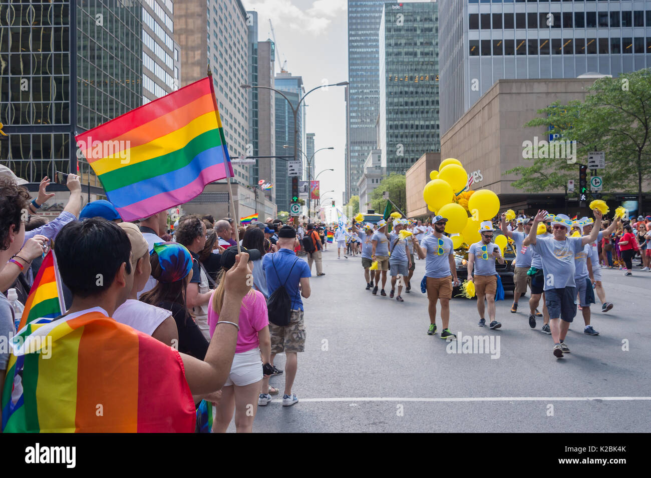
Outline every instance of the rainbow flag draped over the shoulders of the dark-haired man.
POLYGON ((194 432, 180 355, 98 310, 12 339, 3 432, 194 432))

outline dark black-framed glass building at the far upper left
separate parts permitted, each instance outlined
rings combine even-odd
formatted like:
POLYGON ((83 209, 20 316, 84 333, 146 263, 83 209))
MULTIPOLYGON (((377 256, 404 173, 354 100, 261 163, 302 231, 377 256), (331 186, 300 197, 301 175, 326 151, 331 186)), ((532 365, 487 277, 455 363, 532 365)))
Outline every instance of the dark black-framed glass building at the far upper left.
POLYGON ((74 135, 142 103, 141 16, 135 2, 0 0, 3 165, 30 183, 72 170, 101 188, 74 135))

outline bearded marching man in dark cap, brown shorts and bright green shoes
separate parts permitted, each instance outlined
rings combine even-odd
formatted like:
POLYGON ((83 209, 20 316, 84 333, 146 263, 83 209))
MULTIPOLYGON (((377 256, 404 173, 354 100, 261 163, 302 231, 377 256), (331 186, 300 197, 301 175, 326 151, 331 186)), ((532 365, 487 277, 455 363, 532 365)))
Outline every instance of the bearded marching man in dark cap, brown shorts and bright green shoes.
POLYGON ((456 339, 456 335, 452 334, 449 329, 452 287, 459 285, 454 264, 454 246, 452 239, 443 234, 447 219, 443 216, 436 216, 432 222, 434 222, 434 233, 424 236, 420 244, 415 236, 412 238, 413 247, 419 258, 425 259, 428 313, 430 315, 427 334, 436 334, 436 301, 438 300, 441 302, 443 326, 441 338, 456 339))

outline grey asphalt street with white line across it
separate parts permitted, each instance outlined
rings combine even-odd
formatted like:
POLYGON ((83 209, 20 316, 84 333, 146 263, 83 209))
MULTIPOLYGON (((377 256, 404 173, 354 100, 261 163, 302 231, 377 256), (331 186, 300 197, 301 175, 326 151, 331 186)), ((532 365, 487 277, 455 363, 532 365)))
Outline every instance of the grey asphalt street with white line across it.
MULTIPOLYGON (((600 336, 583 334, 579 312, 566 339, 572 353, 558 360, 551 336, 540 332, 542 317, 529 327, 526 298, 519 313, 510 313, 511 293, 497 302, 499 330, 477 326, 476 300, 452 300, 450 330, 473 336, 475 352, 479 341, 493 345, 492 354, 490 347, 464 353, 463 339, 439 338, 438 320, 436 336, 426 334, 424 261, 400 303, 365 290, 359 256, 323 255, 326 275, 311 279, 304 300, 306 350, 293 389, 299 403, 281 406, 284 375, 272 377, 281 394, 258 407, 255 432, 649 431, 651 272, 603 270, 615 307, 602 313, 592 306, 600 336), (460 353, 449 353, 452 347, 460 353)), ((276 365, 284 369, 284 355, 276 365)))

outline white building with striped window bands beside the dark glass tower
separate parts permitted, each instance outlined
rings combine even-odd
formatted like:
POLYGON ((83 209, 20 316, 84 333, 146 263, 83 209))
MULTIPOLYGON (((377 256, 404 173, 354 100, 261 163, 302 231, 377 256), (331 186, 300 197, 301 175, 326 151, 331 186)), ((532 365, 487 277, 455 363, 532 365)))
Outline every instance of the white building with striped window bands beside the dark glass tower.
POLYGON ((172 0, 143 0, 143 105, 178 90, 180 47, 172 0))

